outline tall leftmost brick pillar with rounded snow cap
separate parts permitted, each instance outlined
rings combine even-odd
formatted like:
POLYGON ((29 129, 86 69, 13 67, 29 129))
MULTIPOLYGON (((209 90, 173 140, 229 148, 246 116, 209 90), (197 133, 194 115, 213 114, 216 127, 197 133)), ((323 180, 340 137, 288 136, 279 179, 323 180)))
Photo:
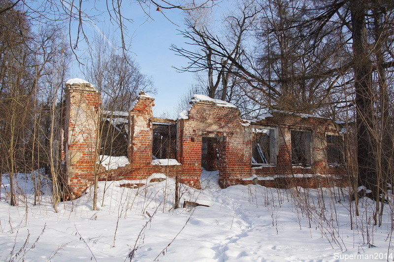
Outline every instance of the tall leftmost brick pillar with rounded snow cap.
POLYGON ((66 82, 65 96, 64 182, 75 198, 94 182, 101 98, 93 85, 78 78, 66 82))

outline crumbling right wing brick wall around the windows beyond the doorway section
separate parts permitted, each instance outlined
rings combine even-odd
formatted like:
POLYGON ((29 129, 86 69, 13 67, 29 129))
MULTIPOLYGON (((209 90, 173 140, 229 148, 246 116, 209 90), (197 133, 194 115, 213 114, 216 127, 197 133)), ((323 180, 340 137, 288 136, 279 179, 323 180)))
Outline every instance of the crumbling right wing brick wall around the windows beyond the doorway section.
MULTIPOLYGON (((338 185, 345 185, 347 183, 348 171, 346 165, 330 165, 327 163, 326 135, 335 134, 342 136, 343 134, 340 133, 339 125, 326 118, 292 114, 288 112, 273 112, 270 117, 252 122, 250 127, 258 128, 259 126, 277 127, 279 130, 279 137, 277 138, 277 163, 274 165, 262 165, 252 168, 253 174, 256 176, 276 176, 278 179, 275 179, 276 181, 262 180, 259 181, 259 184, 270 187, 287 187, 294 185, 317 187, 319 185, 332 186, 335 180, 338 180, 338 185), (292 164, 292 130, 309 131, 311 133, 310 166, 305 167, 292 164), (308 175, 312 174, 320 175, 320 177, 317 179, 305 179, 311 177, 308 175), (304 176, 303 178, 302 175, 304 176), (326 178, 322 180, 322 176, 326 178)), ((349 154, 348 152, 344 153, 349 154)), ((251 182, 242 182, 242 184, 247 183, 251 182)))

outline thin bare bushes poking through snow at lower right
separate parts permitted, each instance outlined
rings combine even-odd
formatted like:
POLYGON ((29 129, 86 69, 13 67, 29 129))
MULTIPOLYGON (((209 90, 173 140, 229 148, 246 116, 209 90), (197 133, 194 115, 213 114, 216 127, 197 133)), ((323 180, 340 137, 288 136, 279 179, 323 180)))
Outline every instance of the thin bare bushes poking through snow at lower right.
MULTIPOLYGON (((345 252, 355 247, 359 247, 361 251, 375 247, 377 237, 381 241, 386 232, 384 242, 387 243, 388 254, 393 250, 394 197, 391 191, 383 203, 385 211, 382 214, 382 226, 379 227, 374 223, 374 200, 361 197, 360 215, 357 215, 356 203, 349 198, 350 188, 277 189, 259 185, 247 187, 248 201, 256 208, 265 207, 271 218, 270 224, 277 234, 283 230, 284 223, 295 223, 300 230, 309 230, 311 238, 318 236, 316 232, 319 232, 333 249, 345 252), (287 208, 292 209, 294 217, 281 217, 282 211, 287 208)), ((381 243, 379 242, 379 245, 381 243)))

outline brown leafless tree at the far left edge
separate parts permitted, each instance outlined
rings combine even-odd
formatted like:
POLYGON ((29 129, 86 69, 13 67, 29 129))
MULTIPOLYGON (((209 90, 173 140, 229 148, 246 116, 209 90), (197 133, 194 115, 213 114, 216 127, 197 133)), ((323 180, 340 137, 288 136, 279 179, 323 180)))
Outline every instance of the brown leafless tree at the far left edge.
POLYGON ((15 9, 0 17, 0 103, 2 171, 8 173, 10 203, 17 205, 14 175, 24 159, 24 133, 28 127, 33 92, 32 56, 26 16, 15 9))

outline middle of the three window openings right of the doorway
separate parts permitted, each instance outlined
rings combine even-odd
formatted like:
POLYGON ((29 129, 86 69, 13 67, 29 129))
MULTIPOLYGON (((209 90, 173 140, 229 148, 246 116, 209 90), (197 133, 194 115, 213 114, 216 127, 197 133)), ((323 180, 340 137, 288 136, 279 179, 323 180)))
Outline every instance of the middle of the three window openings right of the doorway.
POLYGON ((311 132, 291 131, 292 164, 300 166, 311 165, 311 132))

